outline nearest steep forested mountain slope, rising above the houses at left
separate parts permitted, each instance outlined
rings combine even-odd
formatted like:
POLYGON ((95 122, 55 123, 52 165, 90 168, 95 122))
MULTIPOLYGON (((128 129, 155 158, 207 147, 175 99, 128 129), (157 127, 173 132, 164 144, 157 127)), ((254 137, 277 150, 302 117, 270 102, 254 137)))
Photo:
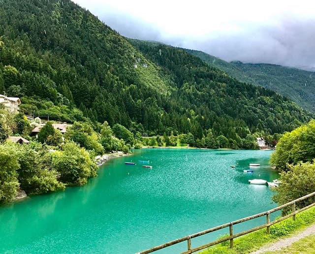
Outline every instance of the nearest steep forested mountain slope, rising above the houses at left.
MULTIPOLYGON (((157 103, 162 105, 162 97, 172 91, 156 66, 73 2, 0 4, 0 72, 7 94, 77 106, 93 120, 130 126, 131 119, 142 120, 142 109, 158 111, 157 103)), ((36 115, 43 106, 30 101, 30 108, 24 109, 36 115)), ((48 113, 53 119, 55 112, 40 112, 48 113)))

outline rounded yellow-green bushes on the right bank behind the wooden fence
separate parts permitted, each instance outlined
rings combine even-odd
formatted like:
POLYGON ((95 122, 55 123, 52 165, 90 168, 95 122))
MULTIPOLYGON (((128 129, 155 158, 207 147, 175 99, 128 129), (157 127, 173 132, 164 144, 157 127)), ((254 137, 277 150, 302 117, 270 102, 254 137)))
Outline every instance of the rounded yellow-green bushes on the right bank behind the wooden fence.
MULTIPOLYGON (((270 162, 281 171, 282 184, 273 199, 284 204, 315 191, 315 120, 286 132, 270 162)), ((299 208, 315 202, 315 197, 297 203, 299 208)))

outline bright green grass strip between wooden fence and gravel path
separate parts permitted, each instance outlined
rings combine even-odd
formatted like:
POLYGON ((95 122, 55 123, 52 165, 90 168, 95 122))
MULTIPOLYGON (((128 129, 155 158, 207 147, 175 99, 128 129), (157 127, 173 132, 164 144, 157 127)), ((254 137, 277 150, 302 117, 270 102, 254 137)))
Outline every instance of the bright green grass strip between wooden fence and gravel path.
POLYGON ((289 218, 270 227, 270 234, 266 229, 252 232, 243 237, 234 239, 234 247, 229 249, 228 242, 204 250, 202 254, 245 254, 258 250, 267 243, 272 243, 288 235, 302 230, 308 225, 315 223, 315 207, 296 215, 296 221, 289 218))

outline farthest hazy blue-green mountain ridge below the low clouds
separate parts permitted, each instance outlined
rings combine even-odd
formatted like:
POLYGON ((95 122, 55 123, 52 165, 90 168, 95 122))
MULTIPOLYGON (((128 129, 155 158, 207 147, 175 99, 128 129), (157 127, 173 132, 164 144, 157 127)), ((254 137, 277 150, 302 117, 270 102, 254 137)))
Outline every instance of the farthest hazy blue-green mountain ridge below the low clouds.
POLYGON ((225 62, 202 51, 185 49, 210 66, 218 67, 240 81, 268 88, 284 95, 301 107, 315 112, 315 73, 276 64, 225 62))

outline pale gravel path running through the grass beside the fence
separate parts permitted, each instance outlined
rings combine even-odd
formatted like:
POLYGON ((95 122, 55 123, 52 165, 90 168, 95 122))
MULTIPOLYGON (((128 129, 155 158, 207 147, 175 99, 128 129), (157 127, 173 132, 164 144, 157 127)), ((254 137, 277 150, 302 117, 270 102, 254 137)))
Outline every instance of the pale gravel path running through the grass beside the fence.
POLYGON ((294 242, 309 236, 309 235, 313 235, 315 234, 315 224, 312 226, 309 226, 307 228, 305 228, 302 232, 290 236, 288 238, 279 240, 275 243, 272 243, 270 245, 264 246, 262 247, 260 250, 256 251, 256 252, 252 252, 252 254, 260 254, 260 253, 264 253, 264 252, 275 252, 275 251, 279 251, 282 248, 288 247, 291 244, 293 244, 294 242))

